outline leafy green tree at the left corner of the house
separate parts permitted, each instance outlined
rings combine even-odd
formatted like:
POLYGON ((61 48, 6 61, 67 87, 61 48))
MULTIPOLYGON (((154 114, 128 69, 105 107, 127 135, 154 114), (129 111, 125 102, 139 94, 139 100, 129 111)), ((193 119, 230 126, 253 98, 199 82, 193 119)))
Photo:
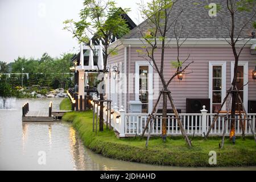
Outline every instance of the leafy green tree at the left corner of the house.
MULTIPOLYGON (((115 6, 112 0, 85 0, 84 9, 80 11, 80 20, 75 22, 73 19, 64 22, 64 30, 72 32, 73 38, 89 45, 90 37, 93 35, 94 40, 101 40, 103 45, 104 69, 103 74, 106 73, 106 65, 108 57, 116 52, 116 47, 110 47, 113 36, 122 37, 127 34, 130 29, 126 20, 122 18, 121 14, 129 11, 122 10, 115 6), (72 25, 75 25, 73 28, 72 25)), ((94 51, 94 55, 96 52, 94 51)), ((102 76, 101 82, 104 81, 102 76)), ((99 90, 100 91, 100 90, 99 90)), ((101 100, 104 100, 104 93, 100 94, 101 100)), ((100 131, 103 131, 103 103, 100 104, 100 131)))

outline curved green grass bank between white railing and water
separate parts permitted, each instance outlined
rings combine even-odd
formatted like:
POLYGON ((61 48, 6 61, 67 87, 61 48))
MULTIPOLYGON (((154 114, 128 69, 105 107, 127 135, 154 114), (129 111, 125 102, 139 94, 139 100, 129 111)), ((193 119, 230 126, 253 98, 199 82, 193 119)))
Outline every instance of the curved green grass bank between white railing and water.
POLYGON ((92 111, 66 113, 63 117, 63 121, 73 122, 86 147, 109 158, 168 166, 205 167, 210 166, 209 152, 216 151, 216 166, 256 166, 256 143, 252 137, 246 140, 237 138, 235 145, 227 138, 223 149, 218 148, 220 137, 207 140, 193 138, 192 148, 188 148, 181 137, 168 137, 166 143, 161 138, 151 138, 148 148, 145 148, 144 138, 118 139, 113 131, 106 129, 96 136, 92 132, 92 120, 92 111))

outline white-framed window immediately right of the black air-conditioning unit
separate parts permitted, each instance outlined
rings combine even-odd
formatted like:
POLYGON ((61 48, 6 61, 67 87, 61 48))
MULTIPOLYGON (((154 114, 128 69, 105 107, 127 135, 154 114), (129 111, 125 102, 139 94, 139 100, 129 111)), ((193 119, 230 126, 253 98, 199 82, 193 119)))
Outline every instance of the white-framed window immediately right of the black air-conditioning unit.
MULTIPOLYGON (((217 113, 226 96, 226 62, 209 62, 209 98, 210 111, 217 113)), ((222 107, 226 110, 226 106, 222 107)))

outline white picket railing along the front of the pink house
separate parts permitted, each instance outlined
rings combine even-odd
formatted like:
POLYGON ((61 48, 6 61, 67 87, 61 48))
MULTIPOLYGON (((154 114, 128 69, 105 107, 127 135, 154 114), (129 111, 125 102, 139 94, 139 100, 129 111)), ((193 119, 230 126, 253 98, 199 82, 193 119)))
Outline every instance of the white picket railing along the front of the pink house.
MULTIPOLYGON (((118 110, 117 106, 113 107, 112 112, 113 119, 111 119, 111 126, 115 131, 119 133, 119 137, 133 137, 135 135, 141 135, 147 122, 148 114, 143 113, 125 113, 123 107, 118 110), (119 119, 117 119, 119 118, 119 119)), ((215 114, 207 113, 208 111, 201 110, 201 113, 197 114, 179 114, 181 122, 184 126, 185 131, 188 135, 195 136, 204 136, 207 134, 210 125, 214 121, 215 114)), ((248 122, 251 122, 251 126, 255 132, 255 122, 256 122, 256 114, 247 114, 249 119, 248 122)), ((226 114, 220 114, 218 116, 217 121, 214 123, 212 130, 209 135, 212 136, 221 136, 223 134, 224 122, 226 114)), ((106 121, 106 113, 104 112, 104 120, 106 121)), ((239 118, 236 115, 236 118, 239 118)), ((245 118, 242 115, 242 118, 245 118)), ((248 122, 244 120, 245 123, 245 134, 251 135, 251 129, 248 125, 248 122)), ((150 123, 146 129, 146 135, 148 134, 148 130, 150 129, 150 123)), ((230 132, 230 120, 226 126, 226 135, 229 135, 230 132)), ((154 118, 154 123, 151 130, 152 136, 160 136, 162 133, 162 114, 156 114, 156 118, 154 118)), ((236 135, 242 134, 242 127, 239 120, 236 121, 236 135)), ((167 114, 167 135, 181 135, 180 127, 177 123, 177 119, 174 114, 167 114)))

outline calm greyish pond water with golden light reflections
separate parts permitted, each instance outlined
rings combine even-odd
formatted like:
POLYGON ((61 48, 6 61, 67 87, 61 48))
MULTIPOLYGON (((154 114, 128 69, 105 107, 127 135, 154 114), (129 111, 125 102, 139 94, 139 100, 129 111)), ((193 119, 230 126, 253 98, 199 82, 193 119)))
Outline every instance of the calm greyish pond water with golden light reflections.
POLYGON ((48 109, 49 101, 59 109, 61 99, 16 100, 13 109, 0 110, 1 170, 256 170, 163 167, 104 158, 85 148, 69 123, 22 123, 26 101, 30 110, 48 109), (45 152, 46 165, 39 165, 39 151, 45 152))

